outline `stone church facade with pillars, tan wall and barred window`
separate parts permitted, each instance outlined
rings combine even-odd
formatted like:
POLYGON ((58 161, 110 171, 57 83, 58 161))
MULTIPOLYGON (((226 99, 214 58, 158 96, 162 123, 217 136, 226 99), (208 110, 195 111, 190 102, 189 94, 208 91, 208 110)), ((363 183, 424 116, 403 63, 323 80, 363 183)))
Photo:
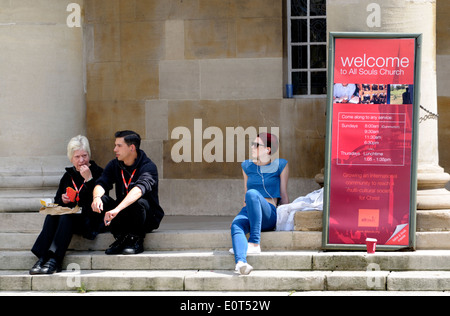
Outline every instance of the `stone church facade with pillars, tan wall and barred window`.
MULTIPOLYGON (((421 124, 419 190, 445 191, 447 2, 0 1, 0 211, 34 210, 53 196, 71 137, 86 135, 105 166, 124 129, 142 136, 157 164, 168 215, 236 214, 240 164, 261 131, 280 138, 291 200, 317 189, 335 31, 424 34, 421 103, 439 119, 421 124)), ((450 209, 444 191, 440 206, 425 194, 423 207, 450 209)))

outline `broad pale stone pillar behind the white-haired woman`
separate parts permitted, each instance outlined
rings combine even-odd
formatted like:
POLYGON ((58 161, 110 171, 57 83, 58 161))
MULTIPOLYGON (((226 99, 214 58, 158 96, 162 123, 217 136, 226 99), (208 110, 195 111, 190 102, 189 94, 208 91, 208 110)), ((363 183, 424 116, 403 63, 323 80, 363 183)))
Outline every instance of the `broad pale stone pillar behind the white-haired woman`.
MULTIPOLYGON (((69 0, 0 0, 0 212, 38 211, 85 133, 81 10, 69 0), (80 14, 78 14, 80 12, 80 14)), ((77 0, 79 8, 83 0, 77 0)))

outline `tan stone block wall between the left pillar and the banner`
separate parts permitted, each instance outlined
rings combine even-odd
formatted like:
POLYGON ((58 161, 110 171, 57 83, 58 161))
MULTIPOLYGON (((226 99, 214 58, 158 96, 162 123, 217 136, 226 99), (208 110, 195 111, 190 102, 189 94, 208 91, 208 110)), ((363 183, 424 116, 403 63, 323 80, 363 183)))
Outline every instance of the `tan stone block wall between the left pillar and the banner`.
POLYGON ((158 165, 168 214, 232 215, 244 192, 238 157, 226 159, 227 127, 276 127, 280 156, 290 162, 291 199, 315 189, 326 99, 283 99, 282 3, 87 0, 87 126, 95 159, 105 165, 114 132, 134 129, 158 165), (182 162, 172 153, 181 140, 177 128, 192 138, 191 159, 182 162), (208 128, 223 136, 214 162, 203 155, 216 140, 208 128))

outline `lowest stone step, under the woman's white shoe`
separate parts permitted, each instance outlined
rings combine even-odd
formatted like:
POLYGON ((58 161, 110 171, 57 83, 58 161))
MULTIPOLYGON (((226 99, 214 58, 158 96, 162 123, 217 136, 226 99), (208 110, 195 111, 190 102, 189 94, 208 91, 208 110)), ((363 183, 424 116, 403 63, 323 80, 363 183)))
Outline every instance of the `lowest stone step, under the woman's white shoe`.
POLYGON ((230 270, 0 271, 0 291, 448 291, 450 272, 230 270))

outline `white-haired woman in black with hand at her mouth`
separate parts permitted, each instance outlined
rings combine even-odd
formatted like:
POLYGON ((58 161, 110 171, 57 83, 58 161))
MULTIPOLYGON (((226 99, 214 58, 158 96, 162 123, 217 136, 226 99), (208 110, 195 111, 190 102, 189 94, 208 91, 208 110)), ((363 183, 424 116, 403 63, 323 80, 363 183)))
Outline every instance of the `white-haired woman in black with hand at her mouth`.
POLYGON ((82 212, 47 215, 42 232, 31 249, 39 258, 30 270, 32 275, 60 272, 73 234, 93 240, 104 229, 103 216, 92 212, 91 208, 95 181, 102 175, 103 169, 90 160, 88 139, 81 135, 72 138, 67 146, 67 156, 73 166, 66 168, 56 192, 55 203, 68 208, 78 205, 82 212), (73 194, 67 194, 69 191, 73 194))

